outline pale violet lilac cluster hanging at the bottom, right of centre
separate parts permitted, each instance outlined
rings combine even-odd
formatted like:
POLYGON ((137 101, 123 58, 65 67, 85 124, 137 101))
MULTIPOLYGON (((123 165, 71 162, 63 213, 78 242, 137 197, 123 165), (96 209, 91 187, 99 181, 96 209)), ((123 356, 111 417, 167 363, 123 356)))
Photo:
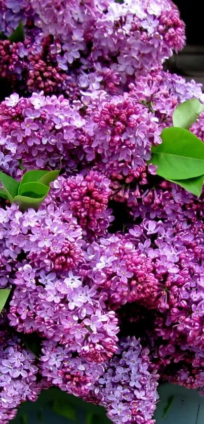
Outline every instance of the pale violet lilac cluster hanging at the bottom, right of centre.
POLYGON ((121 339, 117 354, 105 364, 93 396, 105 406, 113 422, 153 424, 159 375, 150 372, 149 350, 135 337, 121 339))

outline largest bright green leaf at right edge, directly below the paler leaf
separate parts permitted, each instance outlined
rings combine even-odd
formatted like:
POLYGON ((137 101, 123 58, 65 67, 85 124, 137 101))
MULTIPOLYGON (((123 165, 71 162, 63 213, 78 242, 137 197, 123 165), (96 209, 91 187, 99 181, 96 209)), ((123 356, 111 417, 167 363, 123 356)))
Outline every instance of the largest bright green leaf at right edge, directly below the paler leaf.
POLYGON ((167 180, 185 180, 204 174, 204 143, 184 128, 166 128, 162 143, 152 147, 149 163, 167 180))

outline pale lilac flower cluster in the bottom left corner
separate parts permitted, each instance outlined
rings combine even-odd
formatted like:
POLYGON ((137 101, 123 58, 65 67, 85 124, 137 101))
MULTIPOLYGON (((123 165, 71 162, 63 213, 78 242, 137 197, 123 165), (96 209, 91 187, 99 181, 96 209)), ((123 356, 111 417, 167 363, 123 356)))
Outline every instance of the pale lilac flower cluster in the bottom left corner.
POLYGON ((21 402, 35 401, 49 384, 44 384, 42 377, 39 380, 35 356, 22 346, 18 336, 10 334, 4 318, 0 324, 0 420, 7 423, 21 402))

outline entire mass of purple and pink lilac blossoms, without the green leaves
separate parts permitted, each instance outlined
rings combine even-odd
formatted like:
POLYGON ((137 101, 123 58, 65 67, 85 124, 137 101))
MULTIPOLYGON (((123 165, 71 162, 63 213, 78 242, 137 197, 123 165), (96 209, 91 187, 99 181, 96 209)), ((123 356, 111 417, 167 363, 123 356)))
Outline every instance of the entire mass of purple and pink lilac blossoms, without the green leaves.
POLYGON ((159 378, 204 389, 204 193, 151 164, 179 103, 204 103, 162 69, 184 42, 170 0, 0 2, 1 176, 60 170, 38 208, 0 187, 3 424, 50 386, 116 424, 155 422, 159 378))

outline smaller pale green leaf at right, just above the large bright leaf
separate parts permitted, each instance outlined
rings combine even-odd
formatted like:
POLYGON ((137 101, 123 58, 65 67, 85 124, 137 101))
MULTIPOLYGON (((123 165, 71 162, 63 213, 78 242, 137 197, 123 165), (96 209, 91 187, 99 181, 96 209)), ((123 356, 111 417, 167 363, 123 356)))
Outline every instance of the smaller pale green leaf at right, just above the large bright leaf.
POLYGON ((174 126, 180 126, 188 130, 203 110, 203 105, 197 99, 180 103, 173 113, 174 126))

